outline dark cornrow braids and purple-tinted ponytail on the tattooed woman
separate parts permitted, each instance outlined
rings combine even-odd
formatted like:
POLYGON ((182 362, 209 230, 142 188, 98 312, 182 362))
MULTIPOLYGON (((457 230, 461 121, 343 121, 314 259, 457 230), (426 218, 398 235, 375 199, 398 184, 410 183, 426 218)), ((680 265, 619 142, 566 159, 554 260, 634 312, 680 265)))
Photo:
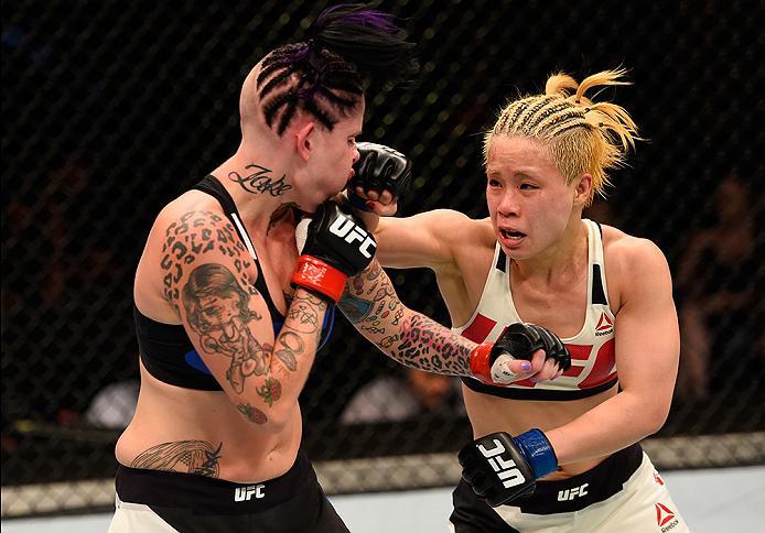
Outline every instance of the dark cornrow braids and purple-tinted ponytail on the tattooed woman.
POLYGON ((271 52, 257 78, 266 122, 279 135, 299 110, 332 130, 370 84, 392 87, 419 69, 414 44, 392 15, 363 4, 324 10, 308 34, 271 52))

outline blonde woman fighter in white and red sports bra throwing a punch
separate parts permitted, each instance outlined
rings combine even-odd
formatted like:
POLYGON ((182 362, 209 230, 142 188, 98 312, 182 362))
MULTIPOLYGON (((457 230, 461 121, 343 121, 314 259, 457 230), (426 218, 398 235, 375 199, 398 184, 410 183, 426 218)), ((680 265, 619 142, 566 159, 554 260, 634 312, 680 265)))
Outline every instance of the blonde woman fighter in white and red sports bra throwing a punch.
MULTIPOLYGON (((667 261, 647 239, 582 219, 639 139, 625 109, 585 96, 624 74, 557 74, 502 110, 484 140, 488 218, 379 219, 380 263, 432 269, 455 331, 482 342, 534 323, 571 352, 551 381, 463 379, 476 440, 460 453, 456 532, 688 531, 638 444, 665 423, 677 374, 667 261)), ((359 152, 362 167, 381 156, 359 152)), ((397 191, 355 185, 375 213, 394 210, 397 191)))

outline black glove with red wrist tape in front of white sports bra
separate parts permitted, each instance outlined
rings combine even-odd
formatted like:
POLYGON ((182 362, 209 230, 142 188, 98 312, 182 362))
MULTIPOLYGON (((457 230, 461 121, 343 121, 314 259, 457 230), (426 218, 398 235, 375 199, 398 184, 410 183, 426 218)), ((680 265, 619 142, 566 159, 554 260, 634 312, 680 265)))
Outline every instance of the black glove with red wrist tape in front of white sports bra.
POLYGON ((554 359, 561 370, 571 368, 571 353, 556 334, 536 324, 518 322, 507 326, 496 342, 483 342, 473 348, 471 372, 484 383, 508 384, 498 381, 500 376, 493 368, 495 361, 503 355, 530 361, 539 349, 545 350, 545 359, 554 359))

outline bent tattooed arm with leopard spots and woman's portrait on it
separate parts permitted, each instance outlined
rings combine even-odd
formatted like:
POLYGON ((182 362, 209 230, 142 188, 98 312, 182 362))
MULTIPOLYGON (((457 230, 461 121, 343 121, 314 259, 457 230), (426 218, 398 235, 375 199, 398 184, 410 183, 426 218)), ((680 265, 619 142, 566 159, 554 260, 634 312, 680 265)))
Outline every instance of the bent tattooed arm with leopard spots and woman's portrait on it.
POLYGON ((165 209, 153 233, 162 295, 200 357, 248 422, 279 432, 313 365, 326 302, 298 289, 274 338, 259 272, 222 214, 165 209))

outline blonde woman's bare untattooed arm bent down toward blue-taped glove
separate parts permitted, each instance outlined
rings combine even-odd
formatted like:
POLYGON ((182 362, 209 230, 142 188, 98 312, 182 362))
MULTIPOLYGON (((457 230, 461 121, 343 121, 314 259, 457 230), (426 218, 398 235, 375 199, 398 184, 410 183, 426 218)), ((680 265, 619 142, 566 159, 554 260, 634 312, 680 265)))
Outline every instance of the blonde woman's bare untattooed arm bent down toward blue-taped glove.
POLYGON ((672 399, 680 333, 661 250, 645 239, 614 243, 621 307, 616 367, 622 391, 563 426, 546 431, 561 465, 613 454, 661 428, 672 399))

